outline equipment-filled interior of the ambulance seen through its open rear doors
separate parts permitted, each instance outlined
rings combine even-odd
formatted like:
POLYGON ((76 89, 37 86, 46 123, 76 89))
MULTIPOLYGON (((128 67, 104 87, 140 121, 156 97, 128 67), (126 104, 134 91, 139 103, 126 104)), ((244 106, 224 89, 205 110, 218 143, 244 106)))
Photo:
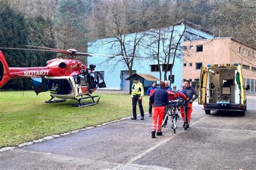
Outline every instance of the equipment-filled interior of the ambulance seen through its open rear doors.
POLYGON ((239 104, 240 89, 235 80, 237 72, 236 68, 208 69, 206 103, 239 104))

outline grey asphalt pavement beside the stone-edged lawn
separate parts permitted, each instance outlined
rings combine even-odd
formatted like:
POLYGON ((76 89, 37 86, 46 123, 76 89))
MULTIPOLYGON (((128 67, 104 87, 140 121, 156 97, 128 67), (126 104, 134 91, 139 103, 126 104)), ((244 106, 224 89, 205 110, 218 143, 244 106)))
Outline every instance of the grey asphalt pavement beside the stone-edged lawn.
POLYGON ((98 128, 0 152, 0 169, 255 169, 256 96, 245 116, 205 115, 193 105, 191 128, 181 118, 173 133, 151 138, 151 117, 98 128))

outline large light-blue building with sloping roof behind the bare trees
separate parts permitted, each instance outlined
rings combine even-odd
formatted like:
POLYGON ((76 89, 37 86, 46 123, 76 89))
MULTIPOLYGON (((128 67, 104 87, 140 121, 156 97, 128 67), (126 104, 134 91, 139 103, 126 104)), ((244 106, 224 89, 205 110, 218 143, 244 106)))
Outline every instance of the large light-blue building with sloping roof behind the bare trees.
MULTIPOLYGON (((172 35, 171 46, 176 46, 181 35, 183 35, 178 44, 178 50, 176 51, 176 58, 174 60, 174 65, 172 69, 172 75, 175 76, 173 85, 178 88, 182 83, 183 76, 183 42, 184 40, 196 40, 196 39, 213 39, 213 33, 204 29, 198 25, 190 22, 186 22, 184 25, 183 21, 177 23, 174 27, 165 27, 160 29, 162 32, 161 42, 160 42, 160 56, 164 56, 164 50, 167 50, 167 46, 170 44, 170 37, 172 35), (174 28, 174 29, 173 29, 174 28), (184 31, 185 30, 185 31, 184 31), (173 31, 173 34, 172 34, 173 31), (164 36, 163 36, 164 35, 164 36), (166 48, 166 49, 165 49, 166 48)), ((131 33, 120 36, 120 38, 125 39, 124 43, 126 46, 127 54, 131 54, 133 50, 134 42, 140 40, 136 48, 136 58, 133 62, 132 74, 142 73, 142 74, 152 74, 158 78, 158 61, 153 59, 153 53, 157 50, 157 43, 155 43, 159 33, 159 30, 149 30, 145 32, 131 33)), ((88 43, 88 52, 95 54, 112 54, 120 55, 121 47, 120 43, 117 42, 116 37, 98 39, 88 43)), ((171 50, 171 56, 174 53, 174 49, 171 50)), ((129 56, 129 55, 128 55, 129 56)), ((163 59, 162 59, 163 60, 163 59)), ((96 71, 104 74, 104 80, 106 83, 106 89, 116 89, 116 90, 129 90, 130 83, 125 81, 129 77, 129 71, 124 59, 122 57, 106 58, 104 55, 102 57, 89 56, 87 59, 88 65, 91 63, 96 65, 96 71)), ((172 63, 172 58, 169 63, 172 63)), ((163 70, 164 65, 160 65, 160 69, 163 70)), ((167 73, 167 77, 170 72, 167 73)), ((161 72, 161 80, 164 81, 164 72, 161 72)), ((150 86, 150 84, 144 84, 144 86, 150 86)))

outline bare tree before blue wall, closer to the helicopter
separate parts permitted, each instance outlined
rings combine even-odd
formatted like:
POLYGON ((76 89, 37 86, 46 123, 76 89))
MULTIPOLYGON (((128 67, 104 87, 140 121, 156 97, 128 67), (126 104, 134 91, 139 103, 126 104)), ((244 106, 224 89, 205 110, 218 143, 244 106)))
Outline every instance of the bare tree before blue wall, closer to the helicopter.
POLYGON ((123 56, 122 58, 112 56, 106 62, 112 60, 115 62, 114 65, 124 63, 131 76, 134 60, 140 58, 138 48, 145 36, 144 33, 139 32, 142 29, 140 25, 142 13, 137 10, 136 3, 131 1, 117 1, 104 5, 107 6, 107 15, 105 20, 99 23, 104 26, 106 34, 111 38, 103 44, 111 45, 113 55, 123 56))

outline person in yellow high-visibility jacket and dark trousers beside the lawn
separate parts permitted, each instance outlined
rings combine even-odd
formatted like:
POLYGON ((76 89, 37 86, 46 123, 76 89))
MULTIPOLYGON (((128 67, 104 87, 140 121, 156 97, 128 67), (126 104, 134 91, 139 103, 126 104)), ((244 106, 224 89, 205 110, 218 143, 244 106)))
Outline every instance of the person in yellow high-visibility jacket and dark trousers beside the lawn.
POLYGON ((136 105, 137 101, 139 103, 139 110, 140 110, 140 120, 144 120, 144 111, 142 106, 142 97, 144 94, 143 84, 139 82, 137 78, 134 78, 133 84, 132 84, 132 120, 137 119, 137 113, 136 113, 136 105))

